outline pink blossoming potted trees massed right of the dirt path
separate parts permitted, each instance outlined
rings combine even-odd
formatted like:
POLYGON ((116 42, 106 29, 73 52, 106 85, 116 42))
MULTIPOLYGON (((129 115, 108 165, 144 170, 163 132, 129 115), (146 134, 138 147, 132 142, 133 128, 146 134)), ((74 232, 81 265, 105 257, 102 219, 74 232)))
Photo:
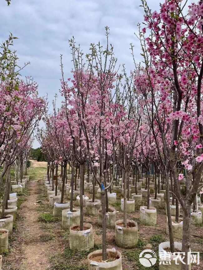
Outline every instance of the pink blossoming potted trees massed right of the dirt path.
MULTIPOLYGON (((67 164, 72 168, 72 190, 78 168, 80 183, 86 165, 88 173, 90 168, 94 174, 102 192, 103 260, 106 260, 107 190, 122 170, 123 224, 127 226, 127 176, 132 171, 137 181, 142 172, 147 176, 152 165, 155 175, 161 173, 166 181, 171 252, 175 248, 169 179, 172 195, 183 210, 182 252, 187 254, 190 249, 191 204, 200 188, 203 169, 203 3, 186 7, 186 2, 165 1, 160 4, 159 12, 152 12, 142 0, 144 27, 138 25, 137 35, 142 62, 136 63, 131 45, 135 70, 130 76, 124 65, 122 70, 116 69, 108 27, 105 48, 100 43, 91 44, 89 52, 84 54, 74 38, 69 41, 72 79, 65 79, 61 56, 62 106, 57 110, 53 102, 53 112, 46 113, 45 128, 38 131, 38 139, 48 161, 48 175, 50 169, 53 178, 55 166, 62 166, 63 187, 67 164), (182 179, 184 189, 180 187, 182 179)), ((149 207, 149 180, 147 186, 149 207)), ((155 197, 156 193, 157 190, 155 197)), ((80 188, 80 230, 83 230, 82 195, 80 188)), ((187 256, 184 260, 187 262, 187 256)), ((183 269, 187 267, 183 265, 183 269)))

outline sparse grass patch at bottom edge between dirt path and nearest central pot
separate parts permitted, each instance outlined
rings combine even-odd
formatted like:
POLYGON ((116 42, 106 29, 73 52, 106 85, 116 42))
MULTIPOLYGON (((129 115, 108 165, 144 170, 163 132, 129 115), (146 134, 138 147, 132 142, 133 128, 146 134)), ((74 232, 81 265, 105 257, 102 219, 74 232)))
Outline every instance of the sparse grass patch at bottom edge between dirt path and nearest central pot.
POLYGON ((57 253, 51 258, 51 270, 87 270, 88 266, 86 264, 76 265, 76 262, 87 259, 87 255, 97 249, 102 249, 102 245, 95 245, 89 251, 65 248, 63 253, 57 253))

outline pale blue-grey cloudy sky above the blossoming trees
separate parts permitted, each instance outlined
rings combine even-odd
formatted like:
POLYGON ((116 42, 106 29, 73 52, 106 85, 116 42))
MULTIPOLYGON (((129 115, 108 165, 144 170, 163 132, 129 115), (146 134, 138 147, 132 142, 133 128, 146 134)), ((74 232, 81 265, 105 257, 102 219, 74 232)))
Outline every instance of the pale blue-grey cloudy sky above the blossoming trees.
MULTIPOLYGON (((137 23, 143 21, 139 0, 12 0, 9 7, 0 0, 0 41, 11 32, 18 37, 14 50, 20 65, 31 64, 22 76, 32 75, 39 85, 41 96, 48 94, 49 102, 60 88, 60 54, 63 54, 65 78, 71 76, 71 54, 68 40, 74 36, 83 52, 90 43, 105 45, 105 26, 110 27, 110 42, 114 45, 118 63, 133 69, 129 50, 135 45, 139 61, 140 45, 136 36, 137 23)), ((148 0, 152 10, 158 10, 157 1, 148 0)), ((58 98, 58 105, 60 97, 58 98)), ((37 147, 37 142, 34 147, 37 147)))

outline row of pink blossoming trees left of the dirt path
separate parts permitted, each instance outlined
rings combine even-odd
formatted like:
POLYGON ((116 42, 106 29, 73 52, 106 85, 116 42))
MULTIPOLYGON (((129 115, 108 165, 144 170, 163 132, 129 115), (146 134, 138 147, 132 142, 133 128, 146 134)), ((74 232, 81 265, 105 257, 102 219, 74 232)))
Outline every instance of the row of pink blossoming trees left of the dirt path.
POLYGON ((4 217, 11 192, 10 169, 14 166, 15 180, 22 182, 23 168, 27 173, 27 157, 32 146, 33 131, 46 107, 46 100, 38 97, 37 83, 31 77, 20 77, 18 58, 11 50, 16 37, 10 34, 0 46, 0 184, 4 196, 0 218, 4 217))

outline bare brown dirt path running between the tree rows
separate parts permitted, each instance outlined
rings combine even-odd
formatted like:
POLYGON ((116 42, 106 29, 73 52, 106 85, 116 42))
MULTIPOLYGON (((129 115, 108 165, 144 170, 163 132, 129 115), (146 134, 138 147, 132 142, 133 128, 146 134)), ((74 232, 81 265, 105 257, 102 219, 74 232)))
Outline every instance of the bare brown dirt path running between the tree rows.
POLYGON ((48 260, 53 255, 53 250, 55 253, 60 249, 59 243, 55 239, 50 239, 49 230, 42 229, 41 223, 37 222, 40 214, 37 211, 39 186, 40 182, 27 183, 30 195, 20 207, 17 230, 12 236, 17 236, 17 239, 11 244, 11 253, 8 258, 6 257, 5 269, 45 270, 50 266, 48 260), (12 263, 8 265, 9 261, 12 263))

